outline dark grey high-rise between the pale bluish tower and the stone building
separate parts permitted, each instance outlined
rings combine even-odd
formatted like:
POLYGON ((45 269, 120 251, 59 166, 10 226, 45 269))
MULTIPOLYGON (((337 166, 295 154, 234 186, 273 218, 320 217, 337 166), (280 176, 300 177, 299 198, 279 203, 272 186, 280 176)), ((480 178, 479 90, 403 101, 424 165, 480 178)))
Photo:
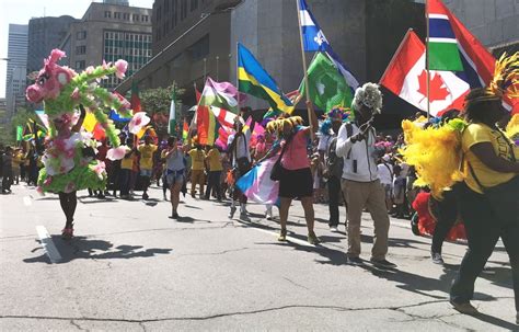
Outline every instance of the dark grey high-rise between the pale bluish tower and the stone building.
POLYGON ((28 21, 27 72, 39 70, 50 50, 59 47, 70 24, 77 22, 72 16, 35 18, 28 21))

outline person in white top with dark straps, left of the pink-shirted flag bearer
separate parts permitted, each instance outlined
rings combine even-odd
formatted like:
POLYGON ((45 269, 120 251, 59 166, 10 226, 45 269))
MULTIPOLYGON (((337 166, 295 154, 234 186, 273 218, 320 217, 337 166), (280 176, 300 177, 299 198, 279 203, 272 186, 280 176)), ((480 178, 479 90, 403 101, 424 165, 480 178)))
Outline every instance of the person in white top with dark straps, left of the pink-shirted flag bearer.
MULTIPOLYGON (((227 146, 229 159, 234 168, 233 176, 234 183, 249 172, 251 169, 251 151, 249 149, 249 142, 251 140, 251 129, 243 127, 242 119, 237 116, 234 118, 233 128, 235 130, 234 135, 230 135, 228 138, 227 146)), ((231 201, 231 210, 229 211, 229 219, 234 217, 234 213, 237 211, 237 202, 240 202, 240 219, 249 221, 250 218, 246 211, 246 196, 243 195, 242 192, 238 187, 233 187, 232 190, 232 201, 231 201)))

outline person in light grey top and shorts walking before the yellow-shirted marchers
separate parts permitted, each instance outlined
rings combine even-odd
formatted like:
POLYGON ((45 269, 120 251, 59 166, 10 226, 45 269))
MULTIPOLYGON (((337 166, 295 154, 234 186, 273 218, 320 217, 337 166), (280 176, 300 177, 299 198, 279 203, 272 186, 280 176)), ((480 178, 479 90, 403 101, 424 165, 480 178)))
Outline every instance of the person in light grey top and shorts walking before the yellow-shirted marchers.
POLYGON ((186 161, 184 153, 188 151, 189 145, 178 146, 176 137, 168 138, 168 147, 162 150, 162 158, 165 160, 166 183, 170 185, 172 219, 178 219, 178 202, 181 191, 185 181, 186 161))

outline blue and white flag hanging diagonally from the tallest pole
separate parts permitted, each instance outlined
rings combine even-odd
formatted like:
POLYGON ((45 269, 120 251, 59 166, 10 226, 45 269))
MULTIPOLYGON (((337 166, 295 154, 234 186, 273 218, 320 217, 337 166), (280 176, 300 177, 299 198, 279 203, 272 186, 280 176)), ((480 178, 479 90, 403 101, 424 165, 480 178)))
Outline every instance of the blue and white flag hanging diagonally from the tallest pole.
POLYGON ((312 12, 308 8, 305 0, 299 0, 300 9, 300 24, 302 31, 302 39, 304 51, 324 51, 328 55, 330 59, 335 64, 337 70, 344 76, 346 83, 355 92, 355 89, 358 88, 359 82, 351 73, 349 68, 339 59, 330 45, 326 36, 324 36, 321 26, 319 26, 318 21, 313 16, 312 12))

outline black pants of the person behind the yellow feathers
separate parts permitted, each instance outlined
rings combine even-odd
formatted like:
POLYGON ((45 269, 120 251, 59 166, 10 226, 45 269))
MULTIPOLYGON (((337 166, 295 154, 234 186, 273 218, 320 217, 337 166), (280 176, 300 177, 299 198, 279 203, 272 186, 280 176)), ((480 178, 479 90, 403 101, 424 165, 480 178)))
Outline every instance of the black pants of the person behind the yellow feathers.
MULTIPOLYGON (((435 199, 430 196, 429 199, 435 199)), ((453 191, 445 191, 443 199, 435 202, 437 206, 437 219, 435 233, 432 234, 431 252, 441 253, 441 247, 452 226, 458 219, 458 202, 453 191)))

